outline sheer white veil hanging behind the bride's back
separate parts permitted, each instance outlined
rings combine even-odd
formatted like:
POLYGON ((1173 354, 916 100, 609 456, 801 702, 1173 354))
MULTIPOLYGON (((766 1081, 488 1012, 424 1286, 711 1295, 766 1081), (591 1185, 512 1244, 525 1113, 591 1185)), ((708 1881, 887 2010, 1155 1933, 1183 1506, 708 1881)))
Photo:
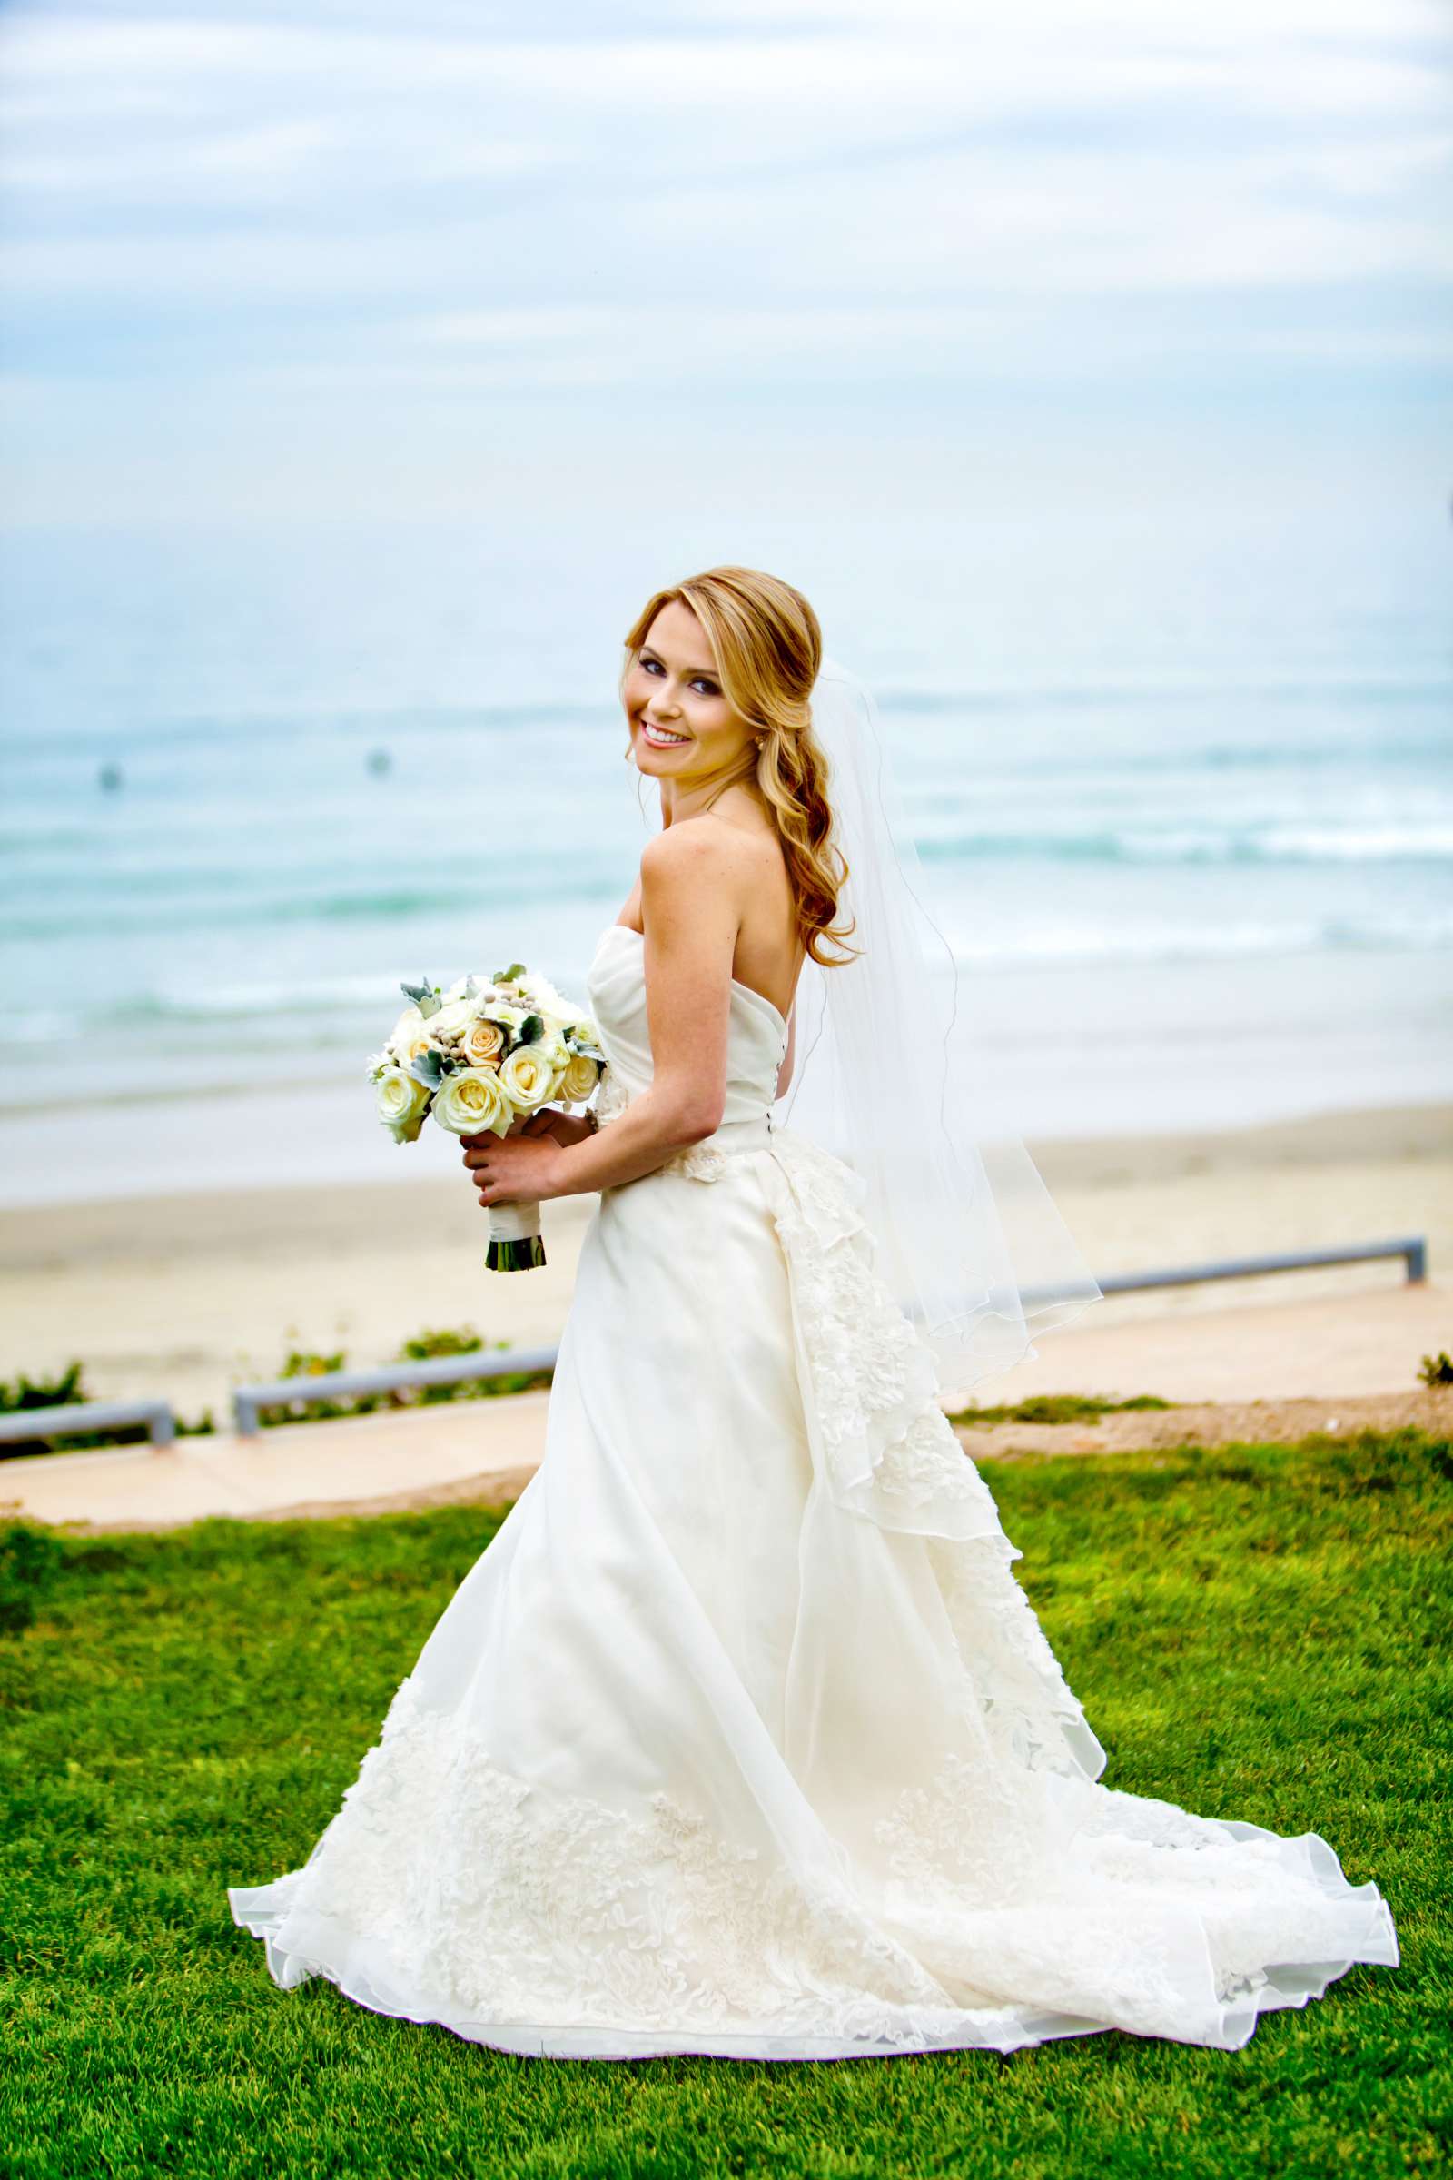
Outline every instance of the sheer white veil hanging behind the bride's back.
POLYGON ((972 1005, 926 907, 871 691, 834 658, 813 687, 854 918, 843 968, 806 961, 780 1118, 858 1175, 876 1269, 965 1395, 1100 1299, 1019 1142, 989 1112, 972 1005), (935 972, 937 970, 937 972, 935 972))

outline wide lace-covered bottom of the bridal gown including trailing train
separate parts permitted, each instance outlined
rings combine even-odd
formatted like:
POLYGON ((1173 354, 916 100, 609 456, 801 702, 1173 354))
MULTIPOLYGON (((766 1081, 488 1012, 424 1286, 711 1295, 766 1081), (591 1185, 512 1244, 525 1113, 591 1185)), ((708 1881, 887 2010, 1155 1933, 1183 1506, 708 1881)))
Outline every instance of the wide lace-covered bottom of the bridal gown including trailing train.
POLYGON ((410 1676, 307 1864, 240 1918, 279 1982, 331 1975, 486 2043, 527 2023, 1013 2049, 1113 2023, 1231 2045, 1329 1964, 1396 1958, 1385 1903, 1316 1833, 1057 1792, 954 1755, 876 1825, 876 1886, 804 1875, 664 1790, 608 1807, 510 1772, 410 1676))

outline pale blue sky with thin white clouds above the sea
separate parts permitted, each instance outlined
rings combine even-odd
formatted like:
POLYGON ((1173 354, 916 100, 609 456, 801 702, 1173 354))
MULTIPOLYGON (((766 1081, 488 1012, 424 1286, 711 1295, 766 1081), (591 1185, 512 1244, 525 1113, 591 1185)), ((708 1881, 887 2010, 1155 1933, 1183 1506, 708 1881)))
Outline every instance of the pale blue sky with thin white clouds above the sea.
POLYGON ((0 7, 11 525, 1446 491, 1444 0, 0 7))

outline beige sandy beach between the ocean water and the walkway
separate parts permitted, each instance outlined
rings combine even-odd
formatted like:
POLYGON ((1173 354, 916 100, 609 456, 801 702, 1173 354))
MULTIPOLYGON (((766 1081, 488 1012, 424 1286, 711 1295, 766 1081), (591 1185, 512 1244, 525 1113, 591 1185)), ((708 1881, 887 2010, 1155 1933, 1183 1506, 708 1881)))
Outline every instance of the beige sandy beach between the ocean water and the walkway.
MULTIPOLYGON (((1098 1275, 1425 1234, 1431 1284, 1451 1288, 1453 1345, 1449 1105, 1030 1149, 1098 1275)), ((484 1271, 486 1219, 462 1173, 4 1210, 0 1376, 78 1358, 94 1397, 163 1393, 183 1417, 209 1406, 222 1424, 229 1386, 274 1376, 290 1347, 366 1365, 425 1328, 460 1325, 490 1343, 551 1343, 590 1210, 547 1203, 549 1267, 510 1277, 484 1271)), ((1080 1325, 1381 1293, 1401 1277, 1401 1264, 1357 1264, 1113 1297, 1080 1325)), ((1065 1336, 1048 1334, 1039 1362, 1015 1373, 1026 1391, 1059 1382, 1065 1336)), ((1296 1358, 1296 1380, 1316 1386, 1314 1356, 1296 1358)), ((1235 1395, 1231 1358, 1220 1397, 1235 1395)))

